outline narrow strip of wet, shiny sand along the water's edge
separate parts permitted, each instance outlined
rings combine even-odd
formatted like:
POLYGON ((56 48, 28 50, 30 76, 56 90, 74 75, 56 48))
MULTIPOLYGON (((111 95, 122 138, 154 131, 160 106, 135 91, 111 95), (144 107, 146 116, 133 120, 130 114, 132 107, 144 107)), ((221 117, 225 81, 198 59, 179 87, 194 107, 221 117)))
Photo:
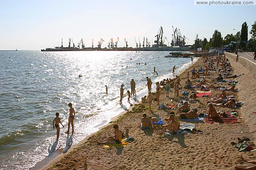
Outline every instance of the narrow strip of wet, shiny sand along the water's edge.
MULTIPOLYGON (((185 63, 187 65, 184 66, 184 67, 183 67, 184 64, 181 65, 181 67, 183 67, 183 68, 179 72, 177 72, 175 75, 180 76, 180 74, 183 74, 184 71, 186 71, 187 69, 192 67, 192 65, 194 65, 194 63, 198 62, 198 60, 199 60, 199 57, 196 57, 196 58, 194 58, 193 63, 191 63, 191 62, 185 63)), ((179 68, 177 68, 177 69, 179 69, 179 68)), ((175 78, 175 76, 173 78, 175 78)), ((153 83, 154 83, 154 81, 153 81, 153 83)), ((154 91, 152 91, 152 93, 154 93, 154 91)), ((145 95, 148 95, 148 94, 145 94, 145 95)), ((138 105, 140 103, 142 103, 142 102, 141 101, 140 102, 134 102, 132 104, 132 106, 129 106, 127 108, 127 110, 123 110, 123 111, 119 112, 116 116, 113 116, 106 125, 103 125, 103 126, 99 127, 98 131, 96 131, 94 133, 91 133, 89 136, 86 136, 84 139, 79 141, 79 143, 72 145, 70 147, 70 149, 68 149, 67 153, 62 153, 62 150, 64 148, 60 148, 58 150, 55 150, 54 152, 49 154, 49 156, 46 156, 41 161, 37 162, 34 167, 29 168, 29 170, 47 170, 49 167, 51 167, 54 164, 54 162, 60 160, 64 156, 71 153, 73 150, 75 150, 77 147, 79 147, 82 143, 86 142, 91 136, 95 135, 96 133, 99 133, 103 128, 105 128, 106 126, 109 126, 111 124, 111 122, 114 122, 117 119, 119 119, 119 116, 122 116, 123 114, 127 113, 128 111, 131 111, 132 108, 134 108, 136 105, 138 105)))

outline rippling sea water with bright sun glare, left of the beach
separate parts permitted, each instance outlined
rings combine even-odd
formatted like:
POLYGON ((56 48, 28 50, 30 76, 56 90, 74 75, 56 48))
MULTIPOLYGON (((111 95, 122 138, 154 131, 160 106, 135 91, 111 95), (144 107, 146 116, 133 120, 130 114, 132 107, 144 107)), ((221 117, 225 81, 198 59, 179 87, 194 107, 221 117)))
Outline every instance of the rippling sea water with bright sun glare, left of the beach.
POLYGON ((131 91, 131 79, 136 82, 137 96, 130 99, 134 104, 147 94, 146 77, 152 82, 172 78, 174 65, 178 74, 191 64, 190 58, 165 58, 168 54, 169 51, 0 51, 0 169, 27 170, 55 150, 64 148, 62 152, 67 152, 71 145, 129 108, 126 91, 131 91), (121 107, 122 84, 125 95, 121 107), (64 133, 69 102, 76 111, 73 135, 64 133), (58 141, 52 127, 56 112, 64 125, 58 141))

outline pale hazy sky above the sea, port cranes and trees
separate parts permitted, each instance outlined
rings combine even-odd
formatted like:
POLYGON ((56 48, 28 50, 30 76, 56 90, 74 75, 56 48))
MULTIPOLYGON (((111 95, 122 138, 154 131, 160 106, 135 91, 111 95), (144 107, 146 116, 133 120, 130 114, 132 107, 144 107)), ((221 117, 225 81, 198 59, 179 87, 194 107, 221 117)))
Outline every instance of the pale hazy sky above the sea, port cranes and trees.
POLYGON ((83 38, 86 47, 94 47, 111 38, 118 46, 154 42, 160 26, 165 44, 172 41, 173 29, 179 28, 192 45, 198 38, 209 40, 215 30, 225 37, 236 34, 247 22, 248 37, 256 21, 256 6, 196 6, 194 0, 0 0, 0 50, 40 50, 83 38))

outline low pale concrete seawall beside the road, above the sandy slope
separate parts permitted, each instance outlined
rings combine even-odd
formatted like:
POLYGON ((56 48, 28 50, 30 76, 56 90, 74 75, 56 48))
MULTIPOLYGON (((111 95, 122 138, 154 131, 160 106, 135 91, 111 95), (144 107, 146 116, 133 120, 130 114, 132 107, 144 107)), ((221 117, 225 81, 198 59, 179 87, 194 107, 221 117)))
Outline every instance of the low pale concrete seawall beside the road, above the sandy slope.
MULTIPOLYGON (((230 57, 231 59, 236 60, 236 54, 230 54, 225 52, 225 56, 230 57)), ((239 56, 238 62, 241 63, 245 68, 247 68, 248 71, 250 71, 251 74, 256 78, 256 64, 251 62, 249 59, 246 59, 244 57, 239 56)))

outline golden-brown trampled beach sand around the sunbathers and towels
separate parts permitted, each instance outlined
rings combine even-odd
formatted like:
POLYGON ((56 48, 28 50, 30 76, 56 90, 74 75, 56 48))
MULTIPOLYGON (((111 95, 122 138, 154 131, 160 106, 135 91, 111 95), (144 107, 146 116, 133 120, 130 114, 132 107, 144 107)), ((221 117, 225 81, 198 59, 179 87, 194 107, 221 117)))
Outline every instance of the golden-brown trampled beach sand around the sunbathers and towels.
MULTIPOLYGON (((236 100, 244 101, 246 95, 250 95, 252 89, 255 90, 255 82, 248 84, 247 78, 250 73, 242 68, 241 64, 230 60, 233 65, 234 73, 245 75, 236 78, 239 83, 236 88, 240 92, 227 92, 227 95, 235 96, 236 100), (243 88, 247 85, 246 88, 243 88)), ((186 81, 186 72, 204 67, 201 59, 195 62, 190 68, 180 74, 181 85, 186 81)), ((215 74, 211 77, 218 77, 215 74)), ((200 80, 198 78, 197 80, 200 80)), ((212 82, 213 79, 208 79, 212 82)), ((255 78, 250 80, 255 81, 255 78)), ((193 82, 193 85, 195 82, 193 82)), ((223 86, 228 86, 227 83, 221 83, 223 86)), ((174 96, 174 92, 169 93, 170 98, 167 98, 165 91, 161 93, 160 103, 177 104, 183 98, 174 96)), ((188 90, 189 92, 194 91, 188 90)), ((220 93, 220 91, 212 91, 212 97, 220 93)), ((255 92, 253 92, 255 93, 255 92)), ((190 103, 190 108, 197 108, 198 113, 208 113, 207 101, 211 97, 198 98, 195 103, 190 103)), ((132 100, 132 99, 131 99, 132 100)), ((209 124, 202 122, 189 122, 195 125, 196 129, 204 130, 202 134, 191 135, 159 135, 156 133, 159 128, 151 130, 141 130, 138 127, 142 114, 145 112, 148 116, 158 116, 162 119, 167 118, 170 110, 157 109, 156 102, 152 104, 152 112, 148 110, 148 103, 139 103, 134 105, 133 111, 128 111, 119 116, 115 121, 110 122, 97 133, 92 134, 86 141, 80 142, 76 148, 70 153, 60 155, 57 159, 50 162, 43 170, 84 170, 84 163, 87 164, 88 170, 234 170, 235 165, 240 167, 248 167, 253 164, 241 161, 242 154, 246 159, 256 160, 256 152, 239 152, 233 147, 230 142, 237 142, 237 138, 248 137, 255 141, 255 117, 252 114, 255 108, 255 102, 247 99, 244 101, 242 109, 236 109, 239 113, 239 123, 234 124, 209 124), (250 108, 251 107, 251 108, 250 108), (247 111, 243 114, 242 111, 247 111), (249 114, 249 112, 251 114, 249 114), (254 121, 253 123, 250 121, 254 121), (103 148, 97 145, 97 140, 102 140, 113 135, 113 125, 119 125, 119 129, 125 132, 129 129, 129 136, 135 138, 134 142, 129 143, 125 147, 103 148), (64 157, 61 157, 64 156, 64 157)), ((255 100, 254 100, 255 101, 255 100)), ((231 108, 215 107, 216 110, 233 111, 231 108)), ((173 111, 177 111, 174 109, 173 111)), ((181 122, 188 123, 188 122, 181 122)))

